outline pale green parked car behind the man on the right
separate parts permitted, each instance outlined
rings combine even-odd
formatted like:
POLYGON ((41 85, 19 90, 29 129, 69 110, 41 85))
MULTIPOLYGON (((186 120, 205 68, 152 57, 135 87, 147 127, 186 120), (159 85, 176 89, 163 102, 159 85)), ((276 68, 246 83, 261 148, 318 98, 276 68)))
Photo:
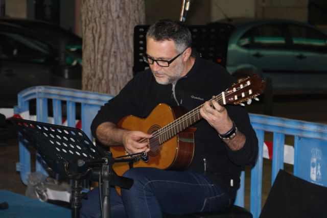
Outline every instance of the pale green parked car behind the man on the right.
MULTIPOLYGON (((228 19, 235 27, 226 68, 238 80, 259 75, 274 93, 327 93, 327 35, 304 22, 228 19)), ((219 22, 215 22, 216 24, 219 22)))

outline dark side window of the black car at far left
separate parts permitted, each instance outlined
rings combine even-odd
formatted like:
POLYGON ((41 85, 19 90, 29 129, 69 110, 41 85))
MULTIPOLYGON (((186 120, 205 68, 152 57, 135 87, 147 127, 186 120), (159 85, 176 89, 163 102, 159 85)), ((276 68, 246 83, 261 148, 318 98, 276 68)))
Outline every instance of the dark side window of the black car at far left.
POLYGON ((0 58, 43 62, 50 48, 44 42, 16 33, 0 31, 0 58))

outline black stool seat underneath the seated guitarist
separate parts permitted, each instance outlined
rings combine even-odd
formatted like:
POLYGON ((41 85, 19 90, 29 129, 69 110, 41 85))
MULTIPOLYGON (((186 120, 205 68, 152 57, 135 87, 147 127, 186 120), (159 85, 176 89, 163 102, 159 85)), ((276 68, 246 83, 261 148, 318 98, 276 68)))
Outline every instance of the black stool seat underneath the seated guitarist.
POLYGON ((252 218, 252 214, 243 207, 232 205, 223 211, 199 212, 184 215, 162 213, 162 218, 252 218))

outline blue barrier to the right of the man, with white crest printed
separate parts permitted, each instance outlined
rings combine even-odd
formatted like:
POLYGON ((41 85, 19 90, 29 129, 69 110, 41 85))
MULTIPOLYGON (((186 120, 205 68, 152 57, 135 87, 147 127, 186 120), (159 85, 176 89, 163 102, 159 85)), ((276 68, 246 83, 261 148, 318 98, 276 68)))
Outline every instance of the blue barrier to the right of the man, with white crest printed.
MULTIPOLYGON (((250 114, 250 120, 258 137, 259 145, 264 142, 265 132, 273 133, 271 184, 274 182, 279 169, 284 169, 285 136, 288 135, 294 136, 294 175, 327 186, 327 177, 322 179, 320 176, 320 180, 317 177, 315 179, 312 177, 313 161, 320 163, 320 175, 327 175, 327 125, 259 114, 250 114), (315 154, 308 153, 308 150, 315 154), (309 159, 309 164, 307 164, 308 161, 303 162, 305 159, 309 159)), ((315 169, 317 175, 317 167, 315 169)), ((251 169, 250 211, 253 217, 259 217, 261 212, 262 170, 263 147, 259 146, 258 160, 251 169)), ((238 194, 243 197, 243 202, 238 202, 242 206, 244 205, 244 191, 240 192, 239 190, 238 194)))

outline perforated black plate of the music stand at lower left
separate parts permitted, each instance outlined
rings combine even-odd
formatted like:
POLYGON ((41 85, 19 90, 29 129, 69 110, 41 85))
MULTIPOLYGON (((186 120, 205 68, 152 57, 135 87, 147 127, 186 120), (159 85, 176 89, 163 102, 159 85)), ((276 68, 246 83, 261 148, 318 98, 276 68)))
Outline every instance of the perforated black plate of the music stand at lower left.
POLYGON ((67 174, 68 164, 77 163, 79 159, 101 159, 105 156, 105 152, 80 129, 27 119, 11 120, 55 173, 67 174))

